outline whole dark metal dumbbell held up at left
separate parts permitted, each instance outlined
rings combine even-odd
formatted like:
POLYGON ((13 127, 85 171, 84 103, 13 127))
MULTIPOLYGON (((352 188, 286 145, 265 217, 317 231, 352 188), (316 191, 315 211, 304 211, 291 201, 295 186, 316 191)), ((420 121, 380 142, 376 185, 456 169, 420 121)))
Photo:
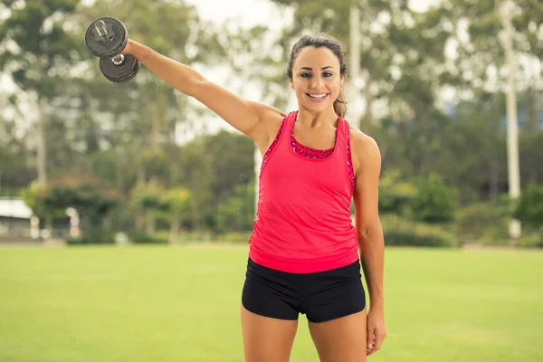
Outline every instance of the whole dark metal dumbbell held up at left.
POLYGON ((121 53, 128 42, 127 28, 113 17, 96 19, 85 32, 85 43, 90 52, 100 57, 100 71, 114 83, 130 81, 141 66, 132 55, 121 53))

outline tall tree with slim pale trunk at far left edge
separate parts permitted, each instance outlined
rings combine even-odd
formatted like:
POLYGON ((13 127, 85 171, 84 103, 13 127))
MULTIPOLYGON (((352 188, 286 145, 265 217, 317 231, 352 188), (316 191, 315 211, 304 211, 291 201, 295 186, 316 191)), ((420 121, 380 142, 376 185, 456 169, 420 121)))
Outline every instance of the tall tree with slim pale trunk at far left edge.
POLYGON ((35 100, 37 121, 38 181, 47 182, 46 128, 49 102, 62 90, 62 74, 79 60, 75 37, 64 22, 76 11, 79 0, 22 2, 4 0, 0 11, 9 14, 0 24, 0 71, 35 100))

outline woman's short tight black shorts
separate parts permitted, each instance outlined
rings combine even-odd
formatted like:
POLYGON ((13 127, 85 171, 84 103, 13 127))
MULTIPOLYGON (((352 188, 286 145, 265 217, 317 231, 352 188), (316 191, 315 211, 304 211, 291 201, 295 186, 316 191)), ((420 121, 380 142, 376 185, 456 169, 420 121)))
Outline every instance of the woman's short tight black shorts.
POLYGON ((243 285, 242 304, 252 313, 275 319, 313 323, 364 310, 366 293, 359 261, 331 271, 297 274, 266 268, 251 258, 243 285))

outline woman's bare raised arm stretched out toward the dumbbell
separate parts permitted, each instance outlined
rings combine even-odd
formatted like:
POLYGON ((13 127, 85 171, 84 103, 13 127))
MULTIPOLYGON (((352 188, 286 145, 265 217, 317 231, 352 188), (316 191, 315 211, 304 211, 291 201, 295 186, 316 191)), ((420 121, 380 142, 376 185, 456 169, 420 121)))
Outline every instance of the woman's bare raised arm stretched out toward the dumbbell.
POLYGON ((233 128, 257 142, 265 141, 262 139, 264 137, 268 138, 268 128, 258 127, 261 120, 284 117, 280 110, 255 101, 243 100, 214 82, 207 81, 193 68, 155 52, 141 43, 129 40, 123 53, 133 55, 158 78, 187 96, 199 100, 233 128))

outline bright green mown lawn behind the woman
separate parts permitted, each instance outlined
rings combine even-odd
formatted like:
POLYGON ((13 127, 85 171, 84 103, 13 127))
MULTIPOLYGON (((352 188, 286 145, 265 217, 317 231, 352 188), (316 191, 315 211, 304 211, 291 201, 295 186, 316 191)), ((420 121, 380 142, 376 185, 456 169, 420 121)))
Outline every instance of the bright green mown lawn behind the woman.
MULTIPOLYGON (((242 361, 247 247, 0 249, 0 361, 242 361)), ((542 361, 543 252, 388 249, 370 361, 542 361)), ((291 361, 318 361, 305 317, 291 361)))

